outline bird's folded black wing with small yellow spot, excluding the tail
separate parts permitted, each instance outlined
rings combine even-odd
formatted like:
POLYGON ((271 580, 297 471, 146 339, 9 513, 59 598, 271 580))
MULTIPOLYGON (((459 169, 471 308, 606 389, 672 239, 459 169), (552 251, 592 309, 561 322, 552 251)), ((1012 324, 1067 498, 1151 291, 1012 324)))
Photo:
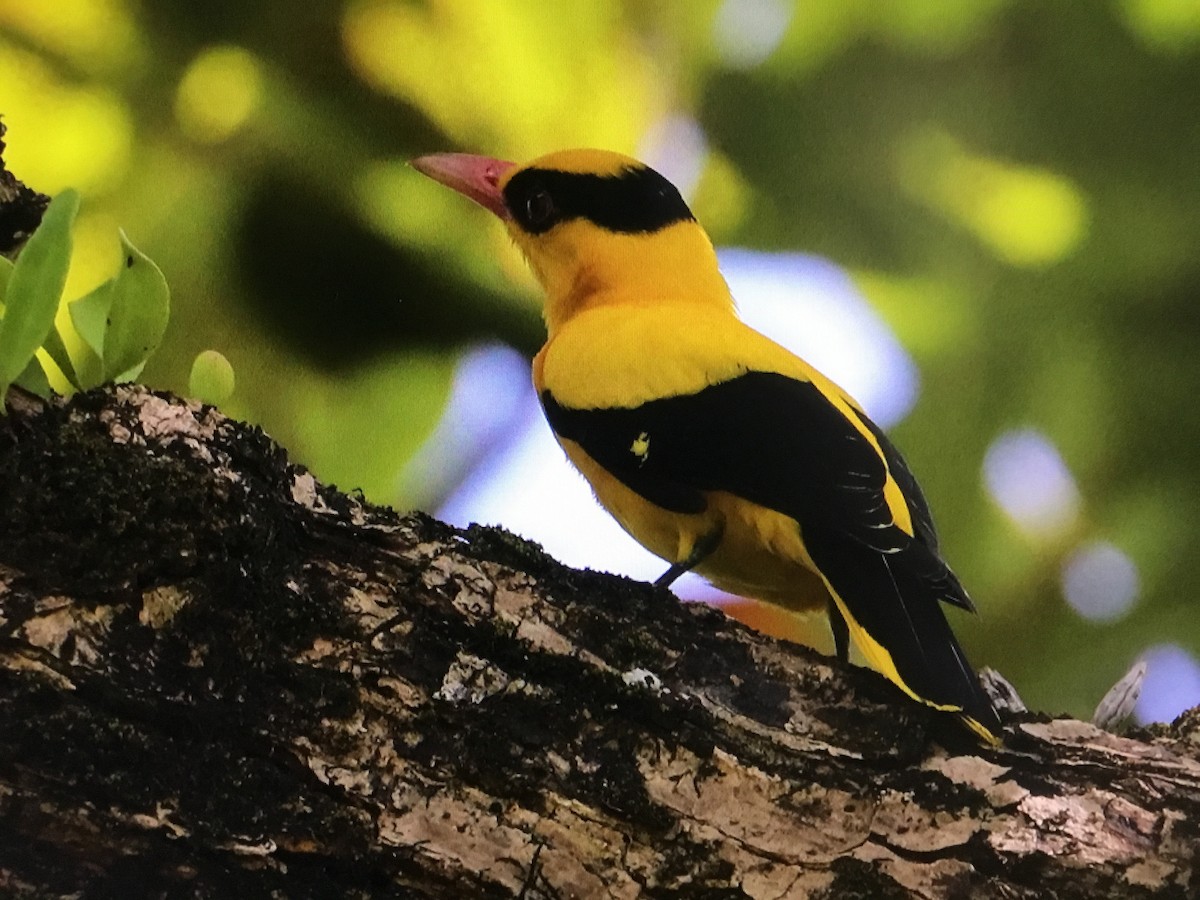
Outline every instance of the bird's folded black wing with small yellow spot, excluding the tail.
POLYGON ((929 506, 890 442, 884 460, 811 382, 748 372, 697 394, 640 407, 570 409, 550 391, 542 407, 556 433, 646 499, 674 512, 704 509, 703 491, 728 491, 827 527, 880 552, 913 542, 883 497, 888 468, 908 499, 916 540, 937 553, 929 506))

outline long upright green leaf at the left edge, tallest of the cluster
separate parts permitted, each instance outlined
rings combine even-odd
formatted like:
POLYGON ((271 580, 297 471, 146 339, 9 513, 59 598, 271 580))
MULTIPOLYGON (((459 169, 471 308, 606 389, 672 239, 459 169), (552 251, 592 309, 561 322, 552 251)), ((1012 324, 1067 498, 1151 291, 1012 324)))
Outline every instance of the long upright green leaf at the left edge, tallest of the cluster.
POLYGON ((71 223, 78 211, 76 191, 64 191, 50 200, 8 276, 5 317, 0 319, 0 397, 54 328, 71 262, 71 223))

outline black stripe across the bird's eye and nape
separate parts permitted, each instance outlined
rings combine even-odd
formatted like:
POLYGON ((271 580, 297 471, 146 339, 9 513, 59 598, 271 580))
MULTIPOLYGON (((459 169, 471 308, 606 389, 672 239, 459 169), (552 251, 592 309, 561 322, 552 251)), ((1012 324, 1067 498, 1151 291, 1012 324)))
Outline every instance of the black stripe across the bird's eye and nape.
POLYGON ((587 218, 625 234, 656 232, 694 218, 674 185, 646 167, 616 175, 523 169, 505 185, 504 203, 530 234, 542 234, 571 218, 587 218), (548 194, 548 212, 547 204, 538 199, 541 193, 548 194))

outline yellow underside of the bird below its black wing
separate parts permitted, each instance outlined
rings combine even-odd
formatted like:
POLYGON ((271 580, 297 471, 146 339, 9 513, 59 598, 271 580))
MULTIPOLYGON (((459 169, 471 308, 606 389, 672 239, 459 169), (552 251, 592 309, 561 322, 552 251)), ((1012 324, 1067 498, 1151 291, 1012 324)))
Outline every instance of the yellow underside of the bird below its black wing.
POLYGON ((601 468, 574 440, 560 440, 596 499, 638 544, 674 563, 696 542, 724 528, 721 542, 695 571, 721 590, 797 612, 824 610, 829 599, 804 548, 796 520, 724 491, 708 492, 696 515, 655 506, 601 468))

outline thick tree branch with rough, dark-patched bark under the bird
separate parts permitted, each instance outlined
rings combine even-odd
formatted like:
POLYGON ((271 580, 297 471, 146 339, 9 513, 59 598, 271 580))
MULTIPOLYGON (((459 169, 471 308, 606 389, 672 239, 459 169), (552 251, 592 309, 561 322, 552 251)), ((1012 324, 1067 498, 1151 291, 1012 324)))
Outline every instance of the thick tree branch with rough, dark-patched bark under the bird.
POLYGON ((982 749, 715 610, 323 487, 211 408, 10 400, 4 896, 1200 893, 1195 712, 982 749))

